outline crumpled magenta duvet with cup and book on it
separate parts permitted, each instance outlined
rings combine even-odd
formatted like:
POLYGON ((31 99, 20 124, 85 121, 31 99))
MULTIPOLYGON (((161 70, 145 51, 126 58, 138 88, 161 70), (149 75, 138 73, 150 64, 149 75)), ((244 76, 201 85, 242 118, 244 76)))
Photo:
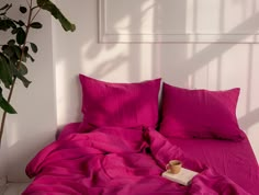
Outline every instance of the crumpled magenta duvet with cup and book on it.
POLYGON ((246 195, 228 177, 187 157, 158 131, 102 127, 54 141, 27 164, 23 195, 246 195), (200 172, 189 186, 161 177, 169 160, 200 172))

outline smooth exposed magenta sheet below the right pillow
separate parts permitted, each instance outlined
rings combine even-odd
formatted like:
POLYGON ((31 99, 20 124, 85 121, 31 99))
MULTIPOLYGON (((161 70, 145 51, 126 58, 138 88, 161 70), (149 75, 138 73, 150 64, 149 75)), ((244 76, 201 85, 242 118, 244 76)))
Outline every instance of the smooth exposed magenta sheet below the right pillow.
POLYGON ((243 141, 169 138, 190 157, 227 175, 244 190, 259 195, 259 169, 251 146, 243 141))

